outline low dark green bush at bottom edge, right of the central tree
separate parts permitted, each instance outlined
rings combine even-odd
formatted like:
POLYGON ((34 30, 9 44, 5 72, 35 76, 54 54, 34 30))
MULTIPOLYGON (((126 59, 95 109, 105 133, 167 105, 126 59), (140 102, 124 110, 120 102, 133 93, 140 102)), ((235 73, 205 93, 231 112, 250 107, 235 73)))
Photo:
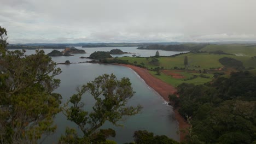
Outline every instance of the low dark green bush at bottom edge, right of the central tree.
POLYGON ((134 141, 136 144, 155 144, 155 143, 161 143, 161 144, 176 144, 179 143, 177 141, 174 141, 170 138, 168 138, 165 135, 156 135, 154 136, 153 133, 150 133, 146 130, 138 130, 135 131, 133 134, 134 141))

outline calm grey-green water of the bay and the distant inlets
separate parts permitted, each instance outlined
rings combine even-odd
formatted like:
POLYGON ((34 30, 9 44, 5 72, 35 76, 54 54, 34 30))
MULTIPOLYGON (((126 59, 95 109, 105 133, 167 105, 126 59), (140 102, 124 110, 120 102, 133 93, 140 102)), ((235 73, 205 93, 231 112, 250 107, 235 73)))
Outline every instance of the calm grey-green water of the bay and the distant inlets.
MULTIPOLYGON (((135 48, 118 47, 118 49, 121 49, 126 52, 131 52, 132 50, 135 50, 135 48)), ((113 47, 107 47, 107 49, 102 47, 85 48, 85 51, 91 53, 95 50, 109 51, 111 49, 113 49, 113 47)), ((45 50, 45 53, 49 53, 50 51, 51 50, 45 50)), ((143 56, 155 55, 155 51, 138 51, 143 51, 143 53, 141 53, 141 55, 143 56)), ((27 55, 30 55, 32 53, 34 53, 34 50, 27 51, 27 55)), ((165 51, 165 54, 166 53, 167 52, 165 51)), ((176 52, 173 53, 176 54, 176 52)), ((80 62, 80 56, 87 57, 88 55, 90 54, 77 54, 71 57, 53 57, 53 61, 57 63, 65 62, 66 60, 69 60, 71 62, 80 62)), ((82 61, 86 60, 82 59, 82 61)), ((141 113, 135 116, 127 117, 125 121, 120 121, 119 124, 123 124, 124 127, 115 127, 114 125, 108 122, 105 123, 102 128, 113 128, 115 129, 117 134, 115 138, 110 139, 113 139, 118 143, 132 142, 132 135, 134 131, 148 130, 156 135, 167 135, 168 137, 171 137, 174 140, 178 140, 178 124, 176 119, 174 119, 174 113, 171 107, 166 104, 166 101, 164 101, 164 99, 162 99, 158 93, 149 88, 148 85, 146 85, 146 83, 133 70, 118 65, 90 63, 58 65, 58 67, 62 69, 62 73, 58 75, 56 78, 61 80, 61 84, 55 92, 62 94, 62 103, 65 103, 69 99, 69 97, 71 97, 71 95, 75 93, 76 87, 78 87, 79 85, 83 85, 86 82, 94 80, 95 77, 97 77, 98 75, 113 73, 118 77, 118 79, 120 79, 121 77, 129 77, 132 83, 133 91, 136 92, 135 95, 130 100, 129 105, 141 104, 143 106, 143 110, 141 113)), ((83 101, 85 103, 85 109, 91 109, 92 102, 94 101, 91 95, 85 94, 83 101)), ((66 127, 77 129, 77 125, 70 121, 67 121, 66 117, 62 113, 56 115, 54 123, 57 124, 57 129, 55 133, 47 137, 43 141, 43 143, 57 143, 59 137, 65 133, 66 127)), ((78 132, 80 135, 82 135, 82 133, 80 133, 79 130, 78 132)))

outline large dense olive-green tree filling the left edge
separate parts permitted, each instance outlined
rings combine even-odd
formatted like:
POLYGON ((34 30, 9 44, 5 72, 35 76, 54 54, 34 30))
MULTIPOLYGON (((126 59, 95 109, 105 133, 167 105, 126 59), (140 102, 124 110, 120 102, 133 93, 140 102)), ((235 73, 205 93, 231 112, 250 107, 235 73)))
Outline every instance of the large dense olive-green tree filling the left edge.
MULTIPOLYGON (((5 31, 5 30, 4 30, 5 31)), ((53 117, 60 112, 61 95, 53 93, 61 73, 56 63, 36 51, 7 51, 1 28, 0 44, 0 143, 36 143, 42 134, 49 135, 56 126, 53 117), (3 55, 3 53, 5 53, 3 55)))

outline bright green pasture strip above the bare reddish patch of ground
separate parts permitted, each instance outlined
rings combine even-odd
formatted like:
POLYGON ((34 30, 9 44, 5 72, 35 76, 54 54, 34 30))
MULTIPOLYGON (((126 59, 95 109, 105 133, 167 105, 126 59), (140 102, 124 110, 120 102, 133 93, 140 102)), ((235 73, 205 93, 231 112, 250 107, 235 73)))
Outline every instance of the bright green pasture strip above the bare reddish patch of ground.
POLYGON ((208 53, 186 53, 184 55, 179 55, 176 57, 159 57, 159 65, 150 64, 152 58, 144 58, 144 57, 121 57, 118 59, 122 59, 128 61, 130 63, 137 64, 144 63, 145 67, 148 69, 155 67, 164 67, 165 69, 174 69, 174 67, 184 68, 184 57, 188 56, 188 69, 210 69, 210 68, 221 68, 223 65, 219 63, 219 59, 223 57, 231 57, 241 61, 246 68, 253 67, 256 68, 256 58, 251 58, 248 56, 234 56, 234 55, 213 55, 208 53), (200 66, 200 67, 199 67, 200 66))

